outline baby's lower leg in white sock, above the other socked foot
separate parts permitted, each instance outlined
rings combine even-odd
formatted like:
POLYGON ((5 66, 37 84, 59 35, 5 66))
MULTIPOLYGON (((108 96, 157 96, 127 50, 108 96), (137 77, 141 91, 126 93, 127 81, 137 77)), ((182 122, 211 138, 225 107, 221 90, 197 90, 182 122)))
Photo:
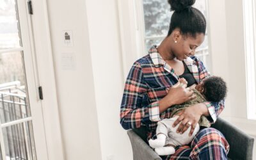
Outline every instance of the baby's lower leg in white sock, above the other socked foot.
POLYGON ((159 121, 157 123, 156 129, 157 139, 156 140, 149 140, 148 143, 152 148, 159 148, 165 145, 165 141, 168 135, 168 129, 166 126, 159 121))

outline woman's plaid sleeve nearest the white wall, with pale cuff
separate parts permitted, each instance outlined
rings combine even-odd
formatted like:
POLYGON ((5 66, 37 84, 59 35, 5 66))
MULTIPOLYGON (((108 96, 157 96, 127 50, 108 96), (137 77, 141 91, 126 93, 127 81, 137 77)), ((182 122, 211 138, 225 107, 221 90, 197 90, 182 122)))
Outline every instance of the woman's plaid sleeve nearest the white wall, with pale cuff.
POLYGON ((148 86, 143 79, 141 65, 135 62, 125 81, 124 94, 120 109, 120 124, 124 129, 139 128, 141 124, 157 122, 159 118, 159 102, 143 106, 143 96, 148 86))

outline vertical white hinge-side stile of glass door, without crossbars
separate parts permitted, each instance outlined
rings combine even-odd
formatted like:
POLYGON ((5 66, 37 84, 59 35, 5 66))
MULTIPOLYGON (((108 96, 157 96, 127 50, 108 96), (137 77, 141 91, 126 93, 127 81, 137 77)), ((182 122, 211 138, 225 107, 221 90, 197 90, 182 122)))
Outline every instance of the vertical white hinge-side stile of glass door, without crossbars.
POLYGON ((36 70, 35 49, 33 46, 33 34, 31 34, 31 23, 28 14, 27 0, 17 0, 19 13, 20 34, 23 40, 24 65, 26 71, 26 83, 28 86, 29 106, 31 108, 33 136, 35 139, 36 159, 48 159, 47 143, 45 138, 44 117, 42 114, 42 103, 38 95, 38 72, 36 70), (24 43, 29 42, 29 43, 24 43), (30 53, 30 54, 28 54, 30 53), (36 118, 33 118, 35 117, 36 118), (41 124, 41 125, 40 125, 41 124))

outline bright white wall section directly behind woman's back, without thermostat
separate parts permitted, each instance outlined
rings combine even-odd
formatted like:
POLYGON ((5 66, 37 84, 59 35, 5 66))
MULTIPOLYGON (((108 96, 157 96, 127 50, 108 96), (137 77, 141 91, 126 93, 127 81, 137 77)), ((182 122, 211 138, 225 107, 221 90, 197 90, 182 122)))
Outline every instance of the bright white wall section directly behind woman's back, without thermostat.
POLYGON ((124 77, 118 4, 86 0, 86 9, 102 159, 132 159, 127 133, 119 123, 124 77))

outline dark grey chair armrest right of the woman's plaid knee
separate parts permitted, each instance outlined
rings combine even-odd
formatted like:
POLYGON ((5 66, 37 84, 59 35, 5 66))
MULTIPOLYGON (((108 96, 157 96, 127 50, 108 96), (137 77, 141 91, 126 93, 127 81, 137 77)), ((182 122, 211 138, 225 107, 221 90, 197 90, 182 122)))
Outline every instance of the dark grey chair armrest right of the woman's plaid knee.
POLYGON ((227 121, 218 118, 211 127, 218 129, 230 145, 228 157, 231 159, 252 159, 254 139, 227 121))

